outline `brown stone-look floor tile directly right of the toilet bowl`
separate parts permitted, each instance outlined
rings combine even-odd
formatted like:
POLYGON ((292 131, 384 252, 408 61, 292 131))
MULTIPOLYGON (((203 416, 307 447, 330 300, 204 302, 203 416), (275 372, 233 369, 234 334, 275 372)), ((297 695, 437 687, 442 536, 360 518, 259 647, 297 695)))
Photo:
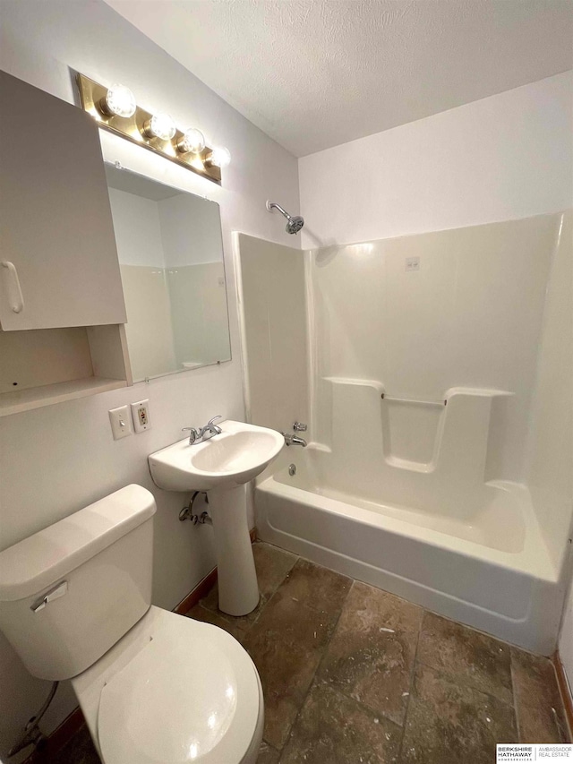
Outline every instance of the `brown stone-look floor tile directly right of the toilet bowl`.
POLYGON ((282 748, 321 660, 321 651, 249 631, 243 641, 261 676, 265 699, 263 737, 282 748))

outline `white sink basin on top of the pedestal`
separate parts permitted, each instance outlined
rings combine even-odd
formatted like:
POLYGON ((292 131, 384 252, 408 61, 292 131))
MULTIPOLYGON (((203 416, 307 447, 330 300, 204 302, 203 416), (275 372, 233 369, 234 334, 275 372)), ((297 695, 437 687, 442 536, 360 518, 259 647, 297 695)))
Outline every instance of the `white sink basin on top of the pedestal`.
POLYGON ((148 457, 151 476, 166 491, 231 489, 260 475, 285 444, 267 427, 227 419, 220 435, 189 445, 189 438, 148 457))

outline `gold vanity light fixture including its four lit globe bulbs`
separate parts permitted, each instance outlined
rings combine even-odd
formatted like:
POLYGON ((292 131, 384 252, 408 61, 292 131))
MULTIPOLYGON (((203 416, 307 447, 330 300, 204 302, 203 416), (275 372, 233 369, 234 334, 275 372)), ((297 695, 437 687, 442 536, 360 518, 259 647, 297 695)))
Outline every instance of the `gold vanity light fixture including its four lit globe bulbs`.
POLYGON ((138 107, 133 92, 120 83, 106 88, 80 73, 77 83, 81 107, 99 127, 221 185, 221 168, 227 167, 231 155, 227 149, 206 146, 201 130, 177 130, 172 116, 138 107))

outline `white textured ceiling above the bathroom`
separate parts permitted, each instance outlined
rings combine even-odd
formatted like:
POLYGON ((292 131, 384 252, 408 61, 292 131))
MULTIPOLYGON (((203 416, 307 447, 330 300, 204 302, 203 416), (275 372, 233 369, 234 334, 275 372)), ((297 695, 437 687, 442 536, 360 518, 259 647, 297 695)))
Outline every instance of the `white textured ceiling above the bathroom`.
POLYGON ((573 68, 573 0, 106 0, 295 156, 573 68))

